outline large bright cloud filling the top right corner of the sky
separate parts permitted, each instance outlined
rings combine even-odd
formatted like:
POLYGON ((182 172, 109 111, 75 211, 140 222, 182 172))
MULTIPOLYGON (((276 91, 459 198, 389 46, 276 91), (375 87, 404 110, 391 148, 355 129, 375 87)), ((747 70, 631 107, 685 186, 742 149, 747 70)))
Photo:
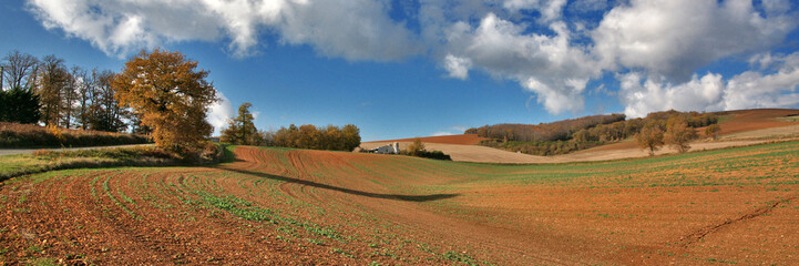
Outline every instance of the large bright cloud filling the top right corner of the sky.
POLYGON ((770 6, 764 16, 747 0, 633 0, 602 19, 594 52, 610 69, 619 64, 686 81, 698 68, 768 49, 796 29, 796 13, 770 6))

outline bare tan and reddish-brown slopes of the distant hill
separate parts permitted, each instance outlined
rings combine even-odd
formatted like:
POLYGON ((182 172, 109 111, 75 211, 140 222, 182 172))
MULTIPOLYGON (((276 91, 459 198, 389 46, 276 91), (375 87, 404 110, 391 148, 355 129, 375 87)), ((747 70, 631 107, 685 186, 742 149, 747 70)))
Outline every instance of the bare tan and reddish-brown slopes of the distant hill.
MULTIPOLYGON (((775 140, 799 137, 799 110, 795 109, 755 109, 737 110, 708 113, 717 116, 721 127, 718 141, 697 140, 692 143, 693 151, 714 150, 728 146, 752 145, 775 140)), ((641 120, 641 119, 635 119, 641 120)), ((629 120, 627 120, 629 121, 629 120)), ((623 121, 616 123, 624 123, 623 121)), ((612 127, 602 125, 603 127, 612 127)), ((704 133, 703 127, 697 127, 699 134, 704 133)), ((477 134, 427 136, 420 137, 429 150, 442 151, 449 154, 453 161, 462 162, 486 162, 486 163, 564 163, 584 161, 604 161, 627 157, 647 156, 638 149, 634 141, 619 140, 605 142, 602 145, 564 154, 536 156, 505 149, 493 149, 481 146, 479 143, 489 139, 480 137, 477 134)), ((391 142, 399 142, 404 149, 414 139, 400 139, 365 142, 362 147, 377 147, 391 142)), ((571 142, 571 141, 568 141, 571 142)), ((664 147, 657 154, 674 153, 664 147)))

